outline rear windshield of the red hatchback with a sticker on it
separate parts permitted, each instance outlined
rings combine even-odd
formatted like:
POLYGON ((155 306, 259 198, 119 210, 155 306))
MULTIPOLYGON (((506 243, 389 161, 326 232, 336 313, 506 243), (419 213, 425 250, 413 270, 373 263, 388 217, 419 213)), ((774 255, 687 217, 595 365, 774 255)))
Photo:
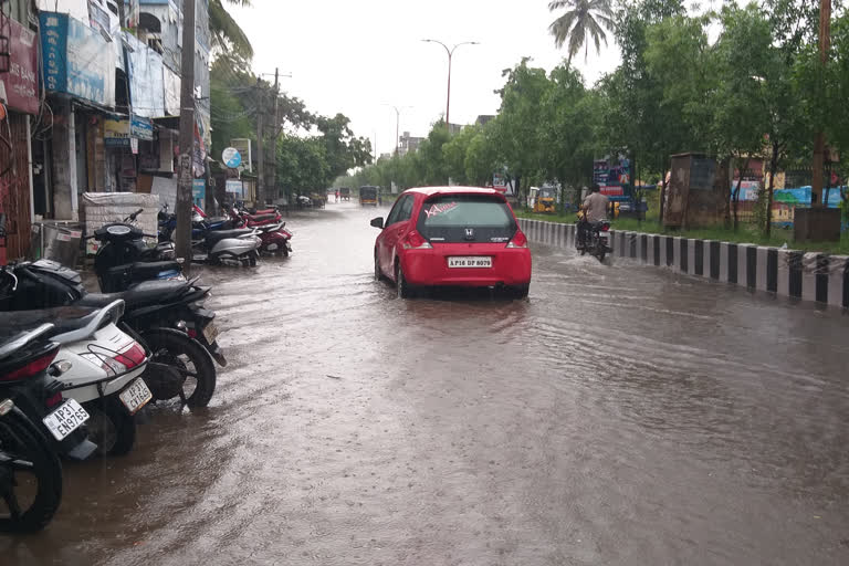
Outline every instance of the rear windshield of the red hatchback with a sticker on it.
POLYGON ((417 230, 433 242, 506 242, 516 231, 507 203, 489 195, 440 195, 424 201, 417 230))

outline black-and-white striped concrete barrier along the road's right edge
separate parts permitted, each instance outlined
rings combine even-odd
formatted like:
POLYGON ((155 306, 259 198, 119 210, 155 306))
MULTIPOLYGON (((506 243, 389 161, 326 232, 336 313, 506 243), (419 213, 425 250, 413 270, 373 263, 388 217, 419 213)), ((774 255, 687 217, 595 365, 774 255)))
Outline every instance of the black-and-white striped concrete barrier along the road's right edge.
MULTIPOLYGON (((575 245, 575 224, 518 219, 532 242, 575 245)), ((612 255, 650 265, 849 308, 849 256, 764 248, 746 243, 694 240, 642 232, 610 231, 612 255)))

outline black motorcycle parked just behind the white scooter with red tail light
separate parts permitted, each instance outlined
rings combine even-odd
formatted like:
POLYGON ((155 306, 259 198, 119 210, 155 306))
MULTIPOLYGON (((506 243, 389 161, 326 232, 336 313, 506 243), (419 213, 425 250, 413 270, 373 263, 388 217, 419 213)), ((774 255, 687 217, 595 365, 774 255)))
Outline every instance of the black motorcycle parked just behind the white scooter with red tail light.
POLYGON ((120 293, 87 293, 73 270, 48 260, 21 262, 0 269, 0 311, 103 307, 123 300, 122 331, 151 352, 144 379, 154 398, 206 407, 216 389, 212 360, 227 359, 216 342, 216 313, 201 303, 209 287, 196 282, 147 281, 120 293))

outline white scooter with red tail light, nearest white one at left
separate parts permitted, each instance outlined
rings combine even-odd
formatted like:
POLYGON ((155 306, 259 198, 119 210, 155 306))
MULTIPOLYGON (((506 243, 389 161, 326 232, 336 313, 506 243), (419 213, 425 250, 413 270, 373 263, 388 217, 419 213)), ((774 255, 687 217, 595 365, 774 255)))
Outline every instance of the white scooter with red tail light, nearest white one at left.
MULTIPOLYGON (((124 302, 104 308, 59 307, 4 314, 10 328, 31 328, 48 321, 49 333, 60 344, 54 366, 63 384, 62 397, 74 400, 88 413, 88 438, 101 454, 120 455, 136 440, 135 413, 153 399, 140 377, 147 368, 148 353, 123 333, 117 322, 124 302)), ((67 419, 75 415, 63 415, 67 419)), ((62 429, 62 422, 57 424, 62 429)))

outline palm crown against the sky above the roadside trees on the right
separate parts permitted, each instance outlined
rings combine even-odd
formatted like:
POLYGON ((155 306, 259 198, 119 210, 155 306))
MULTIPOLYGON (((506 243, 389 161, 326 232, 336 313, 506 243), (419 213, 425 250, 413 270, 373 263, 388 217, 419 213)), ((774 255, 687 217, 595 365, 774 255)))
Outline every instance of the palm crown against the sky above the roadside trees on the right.
POLYGON ((584 60, 587 59, 589 41, 596 44, 596 52, 601 52, 601 42, 607 46, 607 30, 614 29, 614 11, 610 0, 552 0, 548 10, 555 11, 566 8, 566 13, 557 18, 548 27, 554 35, 554 43, 562 48, 566 40, 569 41, 567 63, 584 45, 584 60))

